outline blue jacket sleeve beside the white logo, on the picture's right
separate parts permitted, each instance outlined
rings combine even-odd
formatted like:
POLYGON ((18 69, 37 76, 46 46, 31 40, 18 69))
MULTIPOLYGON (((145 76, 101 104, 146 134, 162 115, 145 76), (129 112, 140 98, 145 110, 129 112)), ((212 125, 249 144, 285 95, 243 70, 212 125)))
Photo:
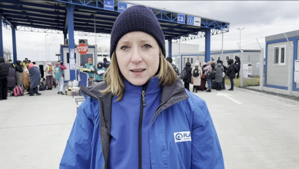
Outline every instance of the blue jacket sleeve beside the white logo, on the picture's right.
POLYGON ((196 106, 192 122, 191 168, 224 169, 222 150, 207 104, 196 106))

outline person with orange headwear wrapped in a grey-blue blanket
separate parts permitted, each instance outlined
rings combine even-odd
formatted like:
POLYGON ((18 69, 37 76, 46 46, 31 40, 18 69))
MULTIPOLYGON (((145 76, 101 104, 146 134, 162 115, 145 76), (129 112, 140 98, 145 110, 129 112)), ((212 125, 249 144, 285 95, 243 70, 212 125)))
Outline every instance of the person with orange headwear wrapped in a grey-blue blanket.
POLYGON ((36 96, 41 95, 41 93, 37 92, 37 86, 40 85, 40 70, 34 66, 33 63, 30 63, 28 66, 29 70, 29 79, 30 79, 30 91, 29 96, 34 96, 36 93, 36 96))

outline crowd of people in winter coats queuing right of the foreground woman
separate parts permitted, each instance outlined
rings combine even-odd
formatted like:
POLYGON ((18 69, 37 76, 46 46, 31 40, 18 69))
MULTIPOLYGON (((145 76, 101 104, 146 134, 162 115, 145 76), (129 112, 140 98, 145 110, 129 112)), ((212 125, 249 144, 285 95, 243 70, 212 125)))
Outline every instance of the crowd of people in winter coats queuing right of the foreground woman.
MULTIPOLYGON (((193 84, 193 92, 198 90, 206 90, 211 92, 211 89, 225 90, 225 76, 228 76, 231 81, 231 88, 234 90, 234 79, 237 74, 239 78, 240 58, 228 60, 228 67, 223 65, 223 61, 215 59, 213 61, 204 62, 201 66, 200 61, 196 61, 194 67, 191 68, 191 63, 186 62, 182 72, 186 72, 187 76, 183 79, 185 88, 190 91, 190 83, 193 84)), ((177 69, 176 67, 173 67, 177 69)))

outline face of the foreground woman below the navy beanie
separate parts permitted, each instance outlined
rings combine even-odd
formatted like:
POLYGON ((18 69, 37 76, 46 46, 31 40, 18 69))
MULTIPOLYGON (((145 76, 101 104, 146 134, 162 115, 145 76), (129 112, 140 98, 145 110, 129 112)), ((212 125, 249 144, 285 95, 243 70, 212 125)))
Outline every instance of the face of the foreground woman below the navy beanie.
POLYGON ((125 34, 118 41, 115 53, 120 72, 133 85, 144 85, 158 71, 160 47, 145 32, 125 34))

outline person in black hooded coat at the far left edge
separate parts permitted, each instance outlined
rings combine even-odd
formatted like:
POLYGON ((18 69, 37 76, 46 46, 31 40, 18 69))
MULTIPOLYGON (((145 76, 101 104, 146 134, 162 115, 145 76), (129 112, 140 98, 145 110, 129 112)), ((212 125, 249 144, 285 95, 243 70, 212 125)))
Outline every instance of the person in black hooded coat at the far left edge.
POLYGON ((7 75, 9 66, 5 63, 4 58, 0 58, 0 100, 7 99, 7 75))

